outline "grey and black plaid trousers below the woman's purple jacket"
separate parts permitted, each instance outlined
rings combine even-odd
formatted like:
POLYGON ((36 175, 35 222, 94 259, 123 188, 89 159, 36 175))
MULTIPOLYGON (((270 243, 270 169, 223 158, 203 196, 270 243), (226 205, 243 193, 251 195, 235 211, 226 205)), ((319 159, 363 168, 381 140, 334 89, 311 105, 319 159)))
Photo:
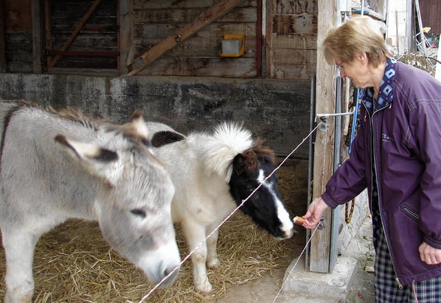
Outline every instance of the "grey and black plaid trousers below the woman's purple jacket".
POLYGON ((411 285, 398 284, 384 231, 380 227, 375 260, 376 303, 439 303, 441 302, 441 277, 431 278, 411 285))

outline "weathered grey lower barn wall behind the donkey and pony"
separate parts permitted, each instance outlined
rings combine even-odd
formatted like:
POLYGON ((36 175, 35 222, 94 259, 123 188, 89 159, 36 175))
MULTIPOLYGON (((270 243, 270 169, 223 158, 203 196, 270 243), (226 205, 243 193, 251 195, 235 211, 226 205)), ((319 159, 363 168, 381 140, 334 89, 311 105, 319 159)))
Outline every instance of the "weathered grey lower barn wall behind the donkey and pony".
MULTIPOLYGON (((0 74, 0 98, 80 107, 125 123, 135 109, 178 132, 209 130, 220 121, 244 123, 287 156, 309 134, 311 83, 269 79, 125 76, 119 78, 0 74)), ((293 154, 308 157, 308 142, 293 154)))

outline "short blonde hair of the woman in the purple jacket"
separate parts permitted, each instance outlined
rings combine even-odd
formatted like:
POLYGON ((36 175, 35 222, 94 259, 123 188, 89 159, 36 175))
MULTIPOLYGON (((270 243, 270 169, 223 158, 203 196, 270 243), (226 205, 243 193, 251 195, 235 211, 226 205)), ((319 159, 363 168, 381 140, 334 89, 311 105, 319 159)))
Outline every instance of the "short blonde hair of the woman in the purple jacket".
POLYGON ((384 41, 382 25, 380 21, 360 16, 332 29, 322 43, 327 63, 334 64, 335 57, 350 62, 357 54, 365 52, 369 62, 377 67, 391 56, 384 41))

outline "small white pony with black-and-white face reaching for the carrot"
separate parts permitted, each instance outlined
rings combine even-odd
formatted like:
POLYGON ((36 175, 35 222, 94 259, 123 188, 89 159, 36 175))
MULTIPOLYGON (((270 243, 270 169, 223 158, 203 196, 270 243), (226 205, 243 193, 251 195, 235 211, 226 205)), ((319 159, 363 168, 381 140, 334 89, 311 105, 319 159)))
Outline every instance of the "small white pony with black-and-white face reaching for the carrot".
MULTIPOLYGON (((225 220, 243 200, 244 213, 277 238, 289 238, 294 224, 283 205, 274 171, 274 151, 254 140, 249 130, 235 123, 222 123, 213 134, 192 133, 185 137, 161 123, 147 123, 154 153, 168 167, 176 194, 172 217, 180 222, 190 251, 225 220), (249 197, 260 185, 260 188, 249 197)), ((210 293, 205 264, 220 265, 214 231, 192 255, 194 286, 210 293)))

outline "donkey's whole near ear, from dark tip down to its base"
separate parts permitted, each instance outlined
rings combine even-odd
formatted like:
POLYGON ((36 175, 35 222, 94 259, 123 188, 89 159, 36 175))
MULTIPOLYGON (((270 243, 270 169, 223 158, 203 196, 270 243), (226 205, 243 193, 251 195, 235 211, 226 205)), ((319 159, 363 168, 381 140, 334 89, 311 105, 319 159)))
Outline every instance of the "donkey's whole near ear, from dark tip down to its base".
POLYGON ((107 178, 108 175, 106 171, 110 164, 116 163, 119 159, 116 152, 103 149, 90 143, 70 140, 61 134, 55 136, 54 140, 61 144, 63 149, 65 149, 74 160, 79 161, 90 174, 103 178, 112 186, 112 181, 107 178))

